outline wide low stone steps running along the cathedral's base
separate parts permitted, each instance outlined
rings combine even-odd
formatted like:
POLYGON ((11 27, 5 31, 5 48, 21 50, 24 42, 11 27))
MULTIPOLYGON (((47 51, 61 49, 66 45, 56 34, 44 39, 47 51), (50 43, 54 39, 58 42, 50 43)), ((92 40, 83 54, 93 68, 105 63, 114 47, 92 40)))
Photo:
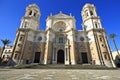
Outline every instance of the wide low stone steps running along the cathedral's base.
POLYGON ((16 65, 11 67, 14 69, 115 69, 115 68, 108 68, 106 66, 101 65, 90 65, 90 64, 83 64, 83 65, 64 65, 64 64, 25 64, 25 65, 16 65))

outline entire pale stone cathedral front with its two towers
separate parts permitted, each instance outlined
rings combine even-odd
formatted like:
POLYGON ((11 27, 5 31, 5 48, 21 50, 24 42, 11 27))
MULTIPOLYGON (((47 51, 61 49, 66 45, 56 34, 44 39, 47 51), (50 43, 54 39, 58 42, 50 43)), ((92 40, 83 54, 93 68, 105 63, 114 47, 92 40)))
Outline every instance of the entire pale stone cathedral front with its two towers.
POLYGON ((14 41, 12 59, 17 64, 94 64, 113 66, 106 31, 93 4, 85 4, 82 28, 76 30, 74 16, 50 15, 46 30, 39 30, 40 9, 36 4, 26 8, 14 41))

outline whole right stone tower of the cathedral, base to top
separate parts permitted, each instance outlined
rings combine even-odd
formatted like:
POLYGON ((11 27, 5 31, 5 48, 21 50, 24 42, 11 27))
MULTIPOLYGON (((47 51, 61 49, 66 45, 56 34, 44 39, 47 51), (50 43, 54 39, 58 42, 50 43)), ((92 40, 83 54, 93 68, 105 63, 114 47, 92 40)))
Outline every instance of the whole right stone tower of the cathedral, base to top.
POLYGON ((82 27, 87 32, 92 62, 96 65, 112 66, 110 48, 106 31, 102 28, 101 19, 93 4, 86 4, 81 12, 82 27))

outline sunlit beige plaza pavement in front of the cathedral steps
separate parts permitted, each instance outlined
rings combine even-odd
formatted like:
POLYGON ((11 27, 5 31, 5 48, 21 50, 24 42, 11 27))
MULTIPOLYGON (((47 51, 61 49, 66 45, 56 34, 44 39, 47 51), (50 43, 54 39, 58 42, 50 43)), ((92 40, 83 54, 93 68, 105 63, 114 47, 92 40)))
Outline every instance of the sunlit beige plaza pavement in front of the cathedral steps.
POLYGON ((0 80, 120 80, 120 70, 0 69, 0 80))

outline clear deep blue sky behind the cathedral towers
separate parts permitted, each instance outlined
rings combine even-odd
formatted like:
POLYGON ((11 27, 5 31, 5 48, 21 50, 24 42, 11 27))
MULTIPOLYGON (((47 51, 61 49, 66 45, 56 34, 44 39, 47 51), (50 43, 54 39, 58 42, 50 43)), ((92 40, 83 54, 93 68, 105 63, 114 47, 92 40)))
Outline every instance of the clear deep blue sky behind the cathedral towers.
MULTIPOLYGON (((120 49, 120 0, 0 0, 0 39, 11 40, 14 42, 16 30, 20 26, 20 20, 25 14, 25 9, 29 4, 36 3, 41 11, 40 29, 45 29, 45 20, 52 12, 53 14, 62 11, 65 14, 72 13, 77 22, 77 30, 81 30, 82 17, 81 10, 86 3, 94 4, 97 13, 102 19, 103 28, 107 31, 107 36, 116 33, 115 38, 118 48, 120 49)), ((108 39, 110 47, 114 45, 108 39)), ((3 44, 0 42, 0 46, 3 44)))

